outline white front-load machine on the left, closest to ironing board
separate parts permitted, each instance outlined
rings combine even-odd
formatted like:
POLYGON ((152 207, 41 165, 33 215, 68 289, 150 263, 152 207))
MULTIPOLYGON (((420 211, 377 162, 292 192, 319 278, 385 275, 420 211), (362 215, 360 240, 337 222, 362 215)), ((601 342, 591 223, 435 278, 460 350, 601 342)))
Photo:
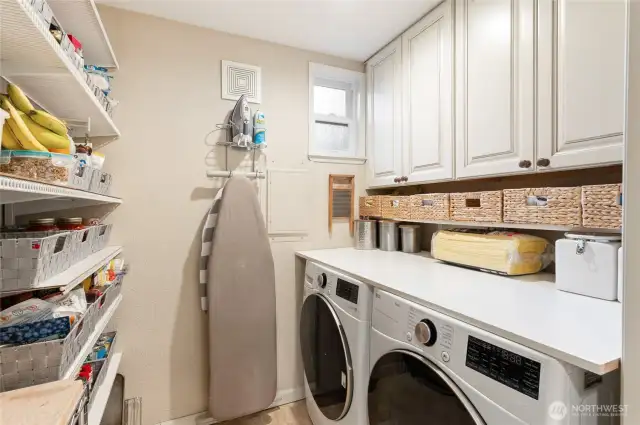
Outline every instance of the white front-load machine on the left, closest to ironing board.
POLYGON ((372 298, 370 286, 307 262, 300 348, 314 425, 368 425, 372 298))

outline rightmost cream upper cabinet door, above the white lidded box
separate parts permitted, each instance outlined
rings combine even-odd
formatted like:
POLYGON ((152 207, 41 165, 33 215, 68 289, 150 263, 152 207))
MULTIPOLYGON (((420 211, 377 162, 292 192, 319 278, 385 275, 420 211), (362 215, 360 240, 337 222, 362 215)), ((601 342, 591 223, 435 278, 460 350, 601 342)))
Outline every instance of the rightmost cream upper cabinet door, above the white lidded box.
POLYGON ((538 169, 621 162, 625 2, 545 0, 539 13, 538 169))

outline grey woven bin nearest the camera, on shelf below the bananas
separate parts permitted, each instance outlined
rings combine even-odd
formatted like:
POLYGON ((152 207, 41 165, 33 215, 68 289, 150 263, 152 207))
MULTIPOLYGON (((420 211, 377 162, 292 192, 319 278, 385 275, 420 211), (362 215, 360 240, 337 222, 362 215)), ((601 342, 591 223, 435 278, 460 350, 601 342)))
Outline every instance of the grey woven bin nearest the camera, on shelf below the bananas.
POLYGON ((70 232, 0 234, 0 290, 34 288, 66 270, 72 239, 70 232))

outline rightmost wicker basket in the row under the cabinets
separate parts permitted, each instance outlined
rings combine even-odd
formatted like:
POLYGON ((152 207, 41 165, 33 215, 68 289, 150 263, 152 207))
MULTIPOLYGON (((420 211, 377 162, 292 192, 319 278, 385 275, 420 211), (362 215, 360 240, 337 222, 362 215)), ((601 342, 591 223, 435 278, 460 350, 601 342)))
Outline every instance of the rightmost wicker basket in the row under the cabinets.
POLYGON ((622 227, 622 185, 582 186, 582 225, 602 229, 622 227))

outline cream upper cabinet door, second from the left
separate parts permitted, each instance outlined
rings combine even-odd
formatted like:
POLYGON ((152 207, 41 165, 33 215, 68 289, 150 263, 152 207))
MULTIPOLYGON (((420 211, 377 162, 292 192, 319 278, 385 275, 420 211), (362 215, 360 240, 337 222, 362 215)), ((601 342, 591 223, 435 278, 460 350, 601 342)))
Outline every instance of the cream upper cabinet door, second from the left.
POLYGON ((451 0, 402 36, 403 173, 408 182, 453 178, 451 0))

